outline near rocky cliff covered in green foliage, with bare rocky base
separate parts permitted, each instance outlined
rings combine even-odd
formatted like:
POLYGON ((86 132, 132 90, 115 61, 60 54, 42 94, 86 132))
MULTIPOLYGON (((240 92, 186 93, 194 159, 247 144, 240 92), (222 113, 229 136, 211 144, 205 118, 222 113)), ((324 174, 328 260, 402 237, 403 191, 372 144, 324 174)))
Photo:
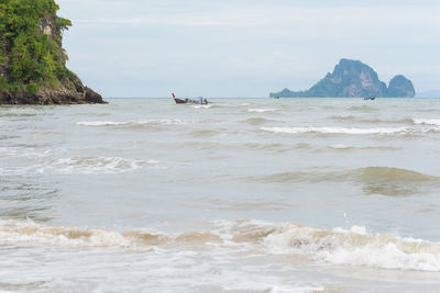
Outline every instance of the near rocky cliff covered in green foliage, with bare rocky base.
POLYGON ((0 0, 0 104, 105 103, 66 68, 54 0, 0 0))

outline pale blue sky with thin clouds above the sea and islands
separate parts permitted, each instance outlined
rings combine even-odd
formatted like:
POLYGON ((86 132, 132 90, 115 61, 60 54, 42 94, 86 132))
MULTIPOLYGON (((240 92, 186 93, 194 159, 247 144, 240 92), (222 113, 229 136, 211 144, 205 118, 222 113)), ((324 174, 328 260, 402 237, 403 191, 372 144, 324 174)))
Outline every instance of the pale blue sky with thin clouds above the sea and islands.
POLYGON ((68 67, 106 98, 305 90, 341 58, 440 90, 439 0, 56 0, 68 67))

